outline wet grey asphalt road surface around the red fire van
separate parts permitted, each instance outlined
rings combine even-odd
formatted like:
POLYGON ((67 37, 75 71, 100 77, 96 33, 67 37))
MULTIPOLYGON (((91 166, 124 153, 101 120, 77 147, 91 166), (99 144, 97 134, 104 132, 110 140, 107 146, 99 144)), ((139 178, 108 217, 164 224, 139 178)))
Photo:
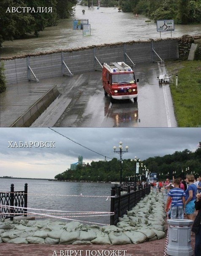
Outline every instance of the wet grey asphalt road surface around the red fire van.
POLYGON ((66 78, 65 86, 57 81, 62 95, 32 127, 177 127, 169 86, 159 86, 158 73, 157 64, 137 65, 139 97, 135 103, 116 100, 111 104, 103 93, 99 71, 66 78))

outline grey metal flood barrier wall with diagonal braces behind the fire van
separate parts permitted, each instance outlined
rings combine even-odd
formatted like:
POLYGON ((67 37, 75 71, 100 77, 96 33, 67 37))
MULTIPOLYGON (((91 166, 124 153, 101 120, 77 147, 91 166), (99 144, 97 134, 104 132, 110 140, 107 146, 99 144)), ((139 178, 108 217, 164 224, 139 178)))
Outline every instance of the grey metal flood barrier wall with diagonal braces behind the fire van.
POLYGON ((33 77, 30 69, 37 80, 68 75, 67 69, 63 72, 63 61, 72 73, 94 71, 100 68, 98 61, 101 63, 125 61, 130 65, 131 62, 126 54, 135 63, 152 62, 158 58, 152 49, 164 60, 179 58, 178 39, 150 39, 147 41, 92 45, 63 51, 55 50, 1 58, 1 60, 4 62, 7 83, 11 84, 30 81, 31 76, 33 77), (95 57, 98 58, 98 61, 95 57))

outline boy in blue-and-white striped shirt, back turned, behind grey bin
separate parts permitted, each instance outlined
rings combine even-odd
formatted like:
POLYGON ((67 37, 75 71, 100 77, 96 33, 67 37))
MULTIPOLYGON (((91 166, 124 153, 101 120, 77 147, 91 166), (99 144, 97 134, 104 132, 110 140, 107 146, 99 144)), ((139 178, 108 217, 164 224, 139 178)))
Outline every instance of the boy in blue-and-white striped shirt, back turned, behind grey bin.
POLYGON ((168 205, 171 201, 171 219, 183 219, 185 208, 185 192, 179 188, 180 181, 175 179, 173 182, 174 188, 168 192, 168 199, 166 202, 166 212, 168 212, 168 205))

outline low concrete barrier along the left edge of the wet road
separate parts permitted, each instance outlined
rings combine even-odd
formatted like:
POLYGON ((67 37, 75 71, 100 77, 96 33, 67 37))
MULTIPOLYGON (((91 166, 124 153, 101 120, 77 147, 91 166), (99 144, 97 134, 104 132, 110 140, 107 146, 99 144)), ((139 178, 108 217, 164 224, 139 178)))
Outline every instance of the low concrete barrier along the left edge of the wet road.
POLYGON ((31 106, 22 117, 19 117, 11 127, 29 127, 59 95, 57 85, 54 85, 52 89, 31 106))

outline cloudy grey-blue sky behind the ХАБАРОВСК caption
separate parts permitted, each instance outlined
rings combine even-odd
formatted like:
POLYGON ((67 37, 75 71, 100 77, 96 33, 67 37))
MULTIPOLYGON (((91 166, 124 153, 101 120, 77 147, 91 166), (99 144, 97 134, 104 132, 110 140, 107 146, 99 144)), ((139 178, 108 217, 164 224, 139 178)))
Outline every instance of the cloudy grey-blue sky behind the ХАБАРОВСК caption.
POLYGON ((129 147, 123 158, 137 156, 141 160, 184 149, 194 151, 201 141, 201 128, 53 129, 63 136, 50 128, 0 128, 0 176, 54 178, 77 162, 80 155, 85 163, 104 160, 104 156, 107 160, 119 158, 113 146, 118 147, 120 141, 124 148, 129 147), (36 142, 36 146, 38 142, 54 142, 54 147, 11 147, 15 142, 18 146, 19 142, 36 142))

